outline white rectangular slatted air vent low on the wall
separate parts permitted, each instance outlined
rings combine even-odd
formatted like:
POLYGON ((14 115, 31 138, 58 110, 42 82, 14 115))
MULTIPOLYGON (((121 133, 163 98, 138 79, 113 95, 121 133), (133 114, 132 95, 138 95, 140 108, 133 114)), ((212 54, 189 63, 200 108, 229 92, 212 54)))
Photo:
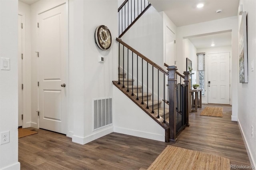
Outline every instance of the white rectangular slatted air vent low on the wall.
POLYGON ((112 98, 94 99, 94 128, 97 130, 112 124, 112 98))

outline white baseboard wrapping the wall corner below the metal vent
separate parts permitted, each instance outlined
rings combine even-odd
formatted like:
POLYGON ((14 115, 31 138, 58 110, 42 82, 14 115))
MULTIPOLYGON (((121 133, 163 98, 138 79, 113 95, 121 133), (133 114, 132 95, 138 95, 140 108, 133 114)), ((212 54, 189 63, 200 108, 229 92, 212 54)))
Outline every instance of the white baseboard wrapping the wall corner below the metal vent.
POLYGON ((98 139, 98 138, 100 138, 102 136, 105 136, 107 134, 110 134, 112 132, 114 132, 113 126, 109 126, 109 127, 106 127, 106 128, 102 128, 100 130, 96 130, 96 131, 94 131, 93 134, 90 134, 90 135, 85 136, 85 137, 73 135, 72 136, 72 142, 76 142, 76 143, 79 143, 79 144, 86 144, 88 142, 91 142, 95 139, 98 139))

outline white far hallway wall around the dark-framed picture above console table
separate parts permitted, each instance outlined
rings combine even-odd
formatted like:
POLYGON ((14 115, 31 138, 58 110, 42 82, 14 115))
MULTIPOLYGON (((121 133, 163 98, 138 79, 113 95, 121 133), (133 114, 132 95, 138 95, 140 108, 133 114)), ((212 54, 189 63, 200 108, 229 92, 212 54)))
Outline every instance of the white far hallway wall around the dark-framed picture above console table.
MULTIPOLYGON (((184 39, 183 40, 183 49, 184 49, 184 57, 185 57, 185 63, 186 63, 186 58, 190 59, 192 61, 192 79, 191 79, 191 84, 198 84, 198 71, 197 71, 197 55, 196 55, 196 47, 190 40, 184 39)), ((180 71, 180 70, 179 70, 180 71)), ((183 71, 186 71, 186 67, 183 71)), ((183 73, 181 70, 180 72, 183 73)))

